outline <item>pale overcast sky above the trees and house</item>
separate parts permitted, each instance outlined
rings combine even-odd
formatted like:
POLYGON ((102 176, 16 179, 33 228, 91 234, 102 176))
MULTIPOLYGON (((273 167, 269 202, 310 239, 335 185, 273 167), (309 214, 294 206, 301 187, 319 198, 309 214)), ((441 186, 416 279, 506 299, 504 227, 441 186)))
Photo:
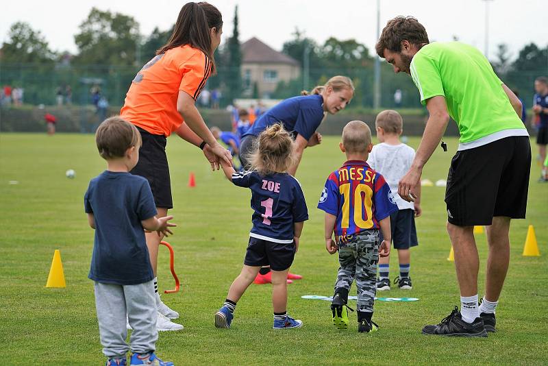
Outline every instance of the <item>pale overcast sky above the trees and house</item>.
MULTIPOLYGON (((292 38, 298 27, 306 36, 324 42, 329 36, 356 38, 373 53, 377 40, 377 0, 211 0, 223 14, 223 42, 232 34, 234 7, 238 5, 240 40, 253 36, 275 49, 292 38)), ((174 0, 18 0, 0 12, 0 41, 16 21, 40 30, 51 49, 77 52, 74 34, 92 7, 134 16, 142 34, 154 27, 168 29, 175 23, 185 1, 174 0)), ((9 4, 9 5, 8 5, 9 4)), ((547 3, 541 0, 489 0, 489 57, 499 43, 506 43, 512 56, 529 42, 548 45, 547 3), (544 13, 543 15, 541 15, 544 13)), ((425 25, 430 40, 458 37, 484 51, 485 0, 380 0, 380 23, 397 15, 415 16, 425 25)))

